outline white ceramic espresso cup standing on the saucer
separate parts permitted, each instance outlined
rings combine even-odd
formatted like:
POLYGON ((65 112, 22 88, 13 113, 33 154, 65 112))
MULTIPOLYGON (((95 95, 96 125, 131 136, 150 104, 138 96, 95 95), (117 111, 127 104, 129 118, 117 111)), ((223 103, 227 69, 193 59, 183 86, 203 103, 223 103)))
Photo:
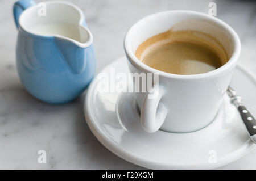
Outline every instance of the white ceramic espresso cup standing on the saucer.
POLYGON ((124 47, 132 73, 159 74, 158 90, 154 90, 158 92, 156 98, 150 99, 148 92, 136 93, 143 129, 176 133, 196 131, 214 120, 241 50, 239 37, 228 24, 207 14, 183 10, 160 12, 139 20, 127 32, 124 47), (207 73, 177 75, 156 70, 138 60, 135 56, 138 46, 170 28, 210 34, 226 50, 228 62, 207 73))

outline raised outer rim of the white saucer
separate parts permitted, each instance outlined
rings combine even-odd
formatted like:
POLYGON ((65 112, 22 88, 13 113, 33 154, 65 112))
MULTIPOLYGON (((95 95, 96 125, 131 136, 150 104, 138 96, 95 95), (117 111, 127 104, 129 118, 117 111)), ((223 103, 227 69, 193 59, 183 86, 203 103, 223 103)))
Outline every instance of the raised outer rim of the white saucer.
MULTIPOLYGON (((110 67, 112 67, 114 64, 117 64, 118 61, 125 60, 125 56, 115 59, 113 62, 111 62, 108 66, 106 66, 102 71, 108 70, 110 67)), ((249 70, 246 70, 243 68, 242 65, 238 64, 236 66, 236 69, 240 69, 243 73, 247 75, 251 80, 253 80, 254 84, 256 85, 256 77, 253 73, 251 73, 249 70)), ((98 141, 101 142, 102 145, 105 146, 108 150, 110 150, 112 153, 117 155, 118 157, 125 159, 128 162, 134 163, 135 165, 142 166, 148 169, 216 169, 218 167, 227 165, 229 163, 232 163, 236 161, 237 159, 243 157, 247 153, 249 153, 252 149, 254 149, 255 144, 248 138, 244 144, 229 153, 228 155, 225 155, 224 157, 221 157, 218 159, 217 163, 209 164, 206 162, 201 163, 195 163, 195 164, 177 164, 177 163, 170 163, 168 161, 159 161, 156 159, 144 157, 143 155, 138 155, 133 153, 133 151, 127 150, 123 148, 122 146, 119 146, 117 142, 109 138, 104 132, 102 132, 102 129, 98 127, 97 125, 97 119, 92 116, 92 113, 90 113, 89 104, 93 96, 90 96, 93 94, 93 90, 97 85, 97 79, 95 78, 92 83, 90 83, 89 89, 86 92, 85 101, 84 101, 84 116, 86 123, 88 124, 90 131, 92 131, 93 135, 97 138, 98 141)))

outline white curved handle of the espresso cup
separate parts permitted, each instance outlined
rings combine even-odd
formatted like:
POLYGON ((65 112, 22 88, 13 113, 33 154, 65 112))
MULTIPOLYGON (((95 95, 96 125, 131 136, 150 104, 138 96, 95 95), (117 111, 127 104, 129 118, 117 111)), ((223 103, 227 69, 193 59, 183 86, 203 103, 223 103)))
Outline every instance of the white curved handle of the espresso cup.
POLYGON ((158 86, 157 88, 152 87, 152 90, 146 93, 141 109, 141 124, 146 132, 153 133, 158 131, 166 119, 168 110, 160 102, 165 92, 163 86, 158 86), (152 96, 150 92, 154 92, 156 95, 152 96))

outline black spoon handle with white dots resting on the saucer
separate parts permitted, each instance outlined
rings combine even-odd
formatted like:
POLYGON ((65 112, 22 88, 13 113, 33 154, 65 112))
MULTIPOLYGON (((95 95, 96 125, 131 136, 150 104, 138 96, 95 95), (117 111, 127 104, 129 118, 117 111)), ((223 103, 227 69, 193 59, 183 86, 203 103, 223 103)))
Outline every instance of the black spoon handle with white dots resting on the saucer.
POLYGON ((256 120, 251 113, 246 109, 245 106, 240 105, 237 107, 242 117, 243 123, 249 133, 251 140, 256 143, 256 120))

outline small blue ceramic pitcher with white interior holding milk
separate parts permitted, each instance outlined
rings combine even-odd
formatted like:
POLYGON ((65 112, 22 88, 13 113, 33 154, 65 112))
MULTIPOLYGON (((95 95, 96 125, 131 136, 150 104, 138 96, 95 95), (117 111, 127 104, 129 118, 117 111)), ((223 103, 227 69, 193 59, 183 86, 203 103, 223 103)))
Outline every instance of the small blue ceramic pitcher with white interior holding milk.
POLYGON ((16 65, 27 91, 47 103, 67 103, 95 73, 93 36, 85 16, 67 2, 17 1, 16 65))

